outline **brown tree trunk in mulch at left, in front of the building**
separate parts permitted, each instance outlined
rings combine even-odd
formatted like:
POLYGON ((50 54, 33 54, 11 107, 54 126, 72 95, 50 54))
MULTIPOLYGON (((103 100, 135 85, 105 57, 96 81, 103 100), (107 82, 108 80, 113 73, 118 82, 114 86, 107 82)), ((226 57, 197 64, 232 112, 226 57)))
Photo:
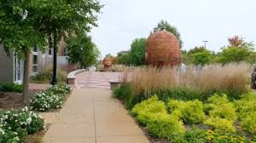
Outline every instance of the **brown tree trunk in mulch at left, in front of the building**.
POLYGON ((30 61, 30 50, 26 49, 26 59, 24 60, 24 70, 23 70, 23 93, 22 93, 22 103, 26 105, 28 96, 28 84, 29 84, 29 61, 30 61))

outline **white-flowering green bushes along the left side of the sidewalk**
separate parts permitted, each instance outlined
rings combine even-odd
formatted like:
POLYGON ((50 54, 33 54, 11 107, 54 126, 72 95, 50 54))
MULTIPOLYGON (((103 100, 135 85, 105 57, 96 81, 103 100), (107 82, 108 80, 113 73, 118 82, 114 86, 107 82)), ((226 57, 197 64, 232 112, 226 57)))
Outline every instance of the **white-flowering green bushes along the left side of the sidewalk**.
POLYGON ((28 106, 22 109, 0 111, 0 142, 40 141, 49 127, 49 124, 45 124, 44 118, 39 115, 40 112, 54 112, 60 109, 70 91, 67 84, 58 83, 36 93, 28 106))

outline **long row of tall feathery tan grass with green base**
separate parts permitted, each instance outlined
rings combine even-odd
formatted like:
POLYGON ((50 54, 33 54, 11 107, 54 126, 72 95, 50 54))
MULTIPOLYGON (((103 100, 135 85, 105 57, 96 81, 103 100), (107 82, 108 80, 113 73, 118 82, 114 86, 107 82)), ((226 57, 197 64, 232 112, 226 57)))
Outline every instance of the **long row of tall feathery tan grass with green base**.
MULTIPOLYGON (((247 81, 250 66, 245 63, 212 65, 197 69, 188 66, 186 72, 179 72, 177 67, 162 68, 140 67, 129 74, 128 82, 131 94, 125 97, 139 102, 158 94, 160 100, 207 100, 212 94, 227 94, 229 100, 239 99, 248 92, 247 81)), ((127 74, 123 79, 127 81, 127 74)), ((121 92, 120 92, 121 93, 121 92)), ((127 96, 127 95, 125 95, 127 96)), ((130 103, 134 103, 130 101, 130 103)), ((132 106, 132 105, 130 105, 132 106)))

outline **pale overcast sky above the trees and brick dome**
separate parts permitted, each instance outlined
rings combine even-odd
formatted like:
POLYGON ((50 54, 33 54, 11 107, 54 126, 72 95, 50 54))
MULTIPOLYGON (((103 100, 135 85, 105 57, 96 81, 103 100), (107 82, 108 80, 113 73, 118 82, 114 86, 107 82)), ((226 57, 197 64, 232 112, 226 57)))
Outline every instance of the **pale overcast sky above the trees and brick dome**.
POLYGON ((218 51, 227 38, 256 40, 255 0, 102 0, 98 27, 91 36, 102 56, 130 49, 137 37, 148 37, 160 20, 181 33, 183 49, 209 41, 207 49, 218 51))

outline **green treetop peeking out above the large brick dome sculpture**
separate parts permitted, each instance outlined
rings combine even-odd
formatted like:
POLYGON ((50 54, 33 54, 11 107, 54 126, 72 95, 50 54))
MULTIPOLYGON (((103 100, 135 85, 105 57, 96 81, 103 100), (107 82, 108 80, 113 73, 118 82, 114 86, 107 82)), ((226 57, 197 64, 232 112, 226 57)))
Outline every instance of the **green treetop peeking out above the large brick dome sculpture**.
POLYGON ((181 39, 179 31, 175 26, 170 25, 166 20, 161 20, 158 25, 154 28, 154 31, 170 31, 177 37, 180 49, 183 48, 183 41, 181 39))

